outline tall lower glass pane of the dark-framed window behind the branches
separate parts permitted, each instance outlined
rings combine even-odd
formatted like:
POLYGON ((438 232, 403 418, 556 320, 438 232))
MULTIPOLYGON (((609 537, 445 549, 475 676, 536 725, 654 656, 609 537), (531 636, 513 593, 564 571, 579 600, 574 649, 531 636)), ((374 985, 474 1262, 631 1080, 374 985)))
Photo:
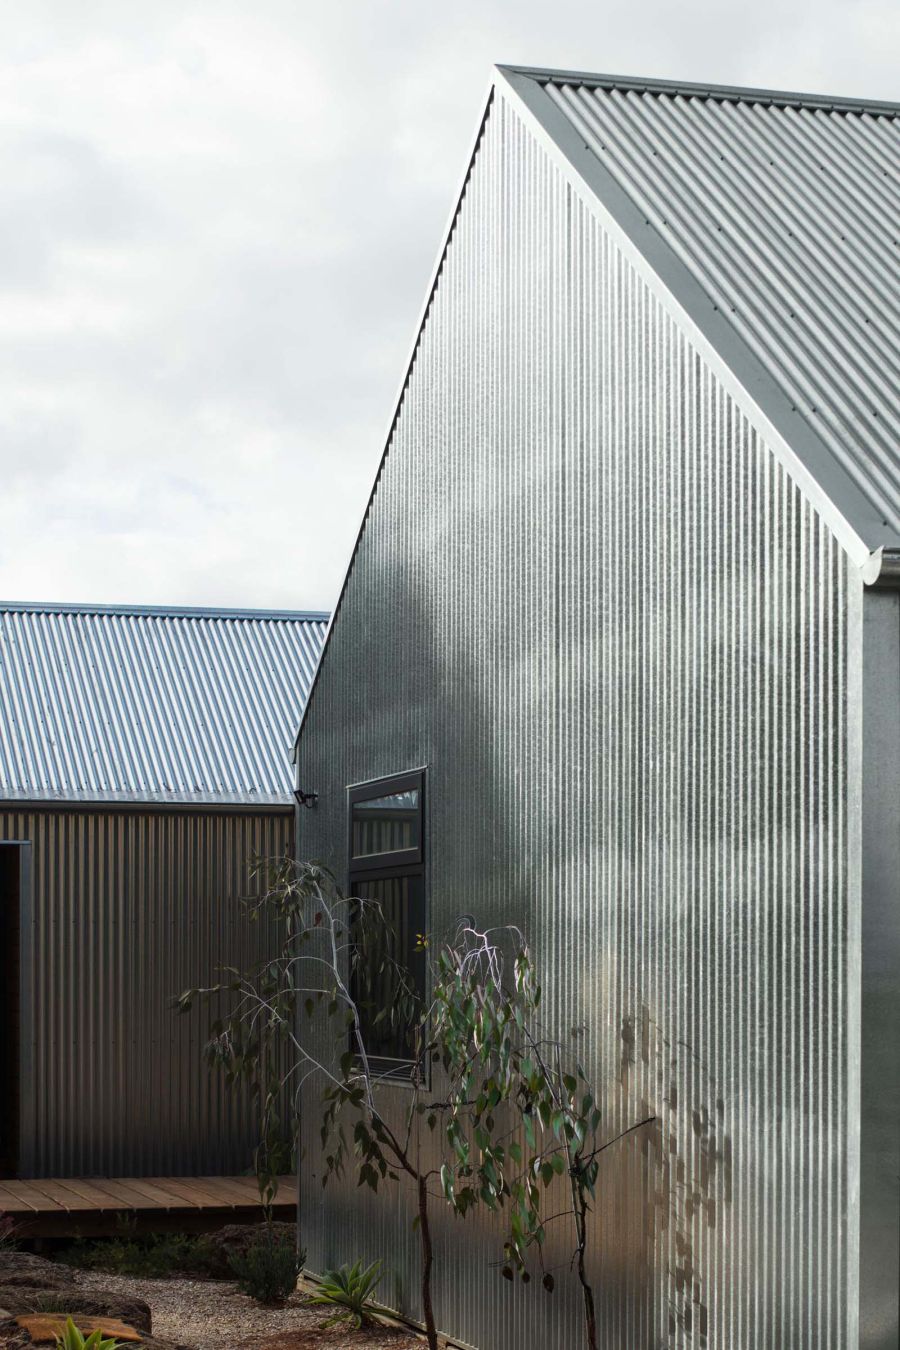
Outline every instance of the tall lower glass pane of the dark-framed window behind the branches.
POLYGON ((425 994, 425 953, 417 950, 425 925, 422 878, 355 882, 354 892, 368 902, 360 905, 354 933, 354 996, 366 1053, 409 1065, 425 994))

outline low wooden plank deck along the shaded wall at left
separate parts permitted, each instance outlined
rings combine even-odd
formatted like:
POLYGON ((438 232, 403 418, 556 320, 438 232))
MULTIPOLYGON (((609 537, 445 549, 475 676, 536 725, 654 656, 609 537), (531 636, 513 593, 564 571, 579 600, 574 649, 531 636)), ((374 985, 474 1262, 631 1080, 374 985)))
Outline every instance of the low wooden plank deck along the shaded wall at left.
MULTIPOLYGON (((115 1233, 123 1220, 144 1230, 202 1231, 262 1218, 255 1177, 47 1177, 0 1180, 0 1212, 22 1237, 115 1233)), ((296 1177, 278 1179, 274 1216, 297 1215, 296 1177)))

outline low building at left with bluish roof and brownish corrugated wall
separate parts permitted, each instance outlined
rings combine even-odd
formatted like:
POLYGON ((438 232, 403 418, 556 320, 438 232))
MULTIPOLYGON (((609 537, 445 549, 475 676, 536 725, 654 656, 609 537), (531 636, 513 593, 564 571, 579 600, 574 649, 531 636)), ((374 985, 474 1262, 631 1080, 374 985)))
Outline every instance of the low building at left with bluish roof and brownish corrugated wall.
POLYGON ((240 1172, 252 1104, 173 995, 266 950, 325 614, 0 605, 0 1164, 240 1172))

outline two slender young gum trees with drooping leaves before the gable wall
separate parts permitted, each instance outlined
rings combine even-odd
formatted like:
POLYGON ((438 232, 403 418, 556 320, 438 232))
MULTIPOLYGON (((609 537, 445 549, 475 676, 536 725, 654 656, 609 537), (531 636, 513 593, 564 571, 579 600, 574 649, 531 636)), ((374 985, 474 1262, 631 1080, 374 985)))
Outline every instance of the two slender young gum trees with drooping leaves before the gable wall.
POLYGON ((514 925, 483 929, 463 915, 443 936, 418 934, 425 977, 413 980, 393 954, 393 929, 376 899, 345 896, 316 863, 282 859, 267 873, 251 913, 279 926, 279 954, 177 999, 182 1011, 197 1000, 217 1013, 224 1006, 206 1056, 228 1084, 243 1080, 260 1103, 255 1169, 263 1207, 277 1192, 274 1145, 285 1103, 296 1129, 298 1084, 317 1079, 322 1184, 354 1173, 374 1193, 402 1185, 414 1197, 429 1350, 439 1345, 432 1222, 441 1202, 459 1219, 479 1208, 497 1215, 505 1278, 528 1284, 534 1273, 552 1295, 557 1272, 571 1268, 583 1345, 598 1350, 590 1214, 599 1160, 656 1118, 646 1114, 611 1135, 603 1129, 596 1088, 573 1056, 579 1029, 545 1019, 537 961, 514 925), (385 1069, 367 1053, 371 1013, 409 1050, 402 1111, 381 1091, 385 1069), (568 1228, 571 1264, 555 1257, 548 1265, 551 1226, 560 1234, 555 1247, 568 1228))

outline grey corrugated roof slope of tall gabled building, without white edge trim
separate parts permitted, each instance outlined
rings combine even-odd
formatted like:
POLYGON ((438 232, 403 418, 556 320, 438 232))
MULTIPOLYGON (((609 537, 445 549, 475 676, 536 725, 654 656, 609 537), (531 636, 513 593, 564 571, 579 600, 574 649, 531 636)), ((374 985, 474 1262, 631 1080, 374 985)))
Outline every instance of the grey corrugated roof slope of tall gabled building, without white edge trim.
POLYGON ((900 539, 900 105, 519 73, 900 539))

